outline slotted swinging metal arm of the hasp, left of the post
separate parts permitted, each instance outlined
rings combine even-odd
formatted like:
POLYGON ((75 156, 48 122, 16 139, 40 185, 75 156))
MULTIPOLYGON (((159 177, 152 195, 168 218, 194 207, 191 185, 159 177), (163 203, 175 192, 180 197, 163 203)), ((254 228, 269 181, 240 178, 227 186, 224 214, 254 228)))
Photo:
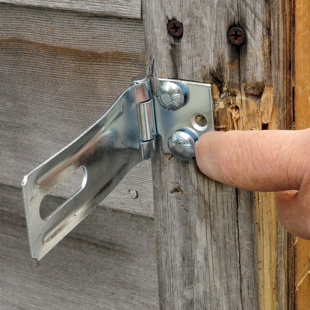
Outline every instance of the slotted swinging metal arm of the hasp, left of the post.
POLYGON ((139 140, 139 102, 151 99, 149 81, 131 86, 97 122, 24 177, 22 188, 31 255, 41 259, 82 221, 133 166, 155 155, 155 141, 139 140), (81 188, 46 219, 42 198, 84 169, 81 188))

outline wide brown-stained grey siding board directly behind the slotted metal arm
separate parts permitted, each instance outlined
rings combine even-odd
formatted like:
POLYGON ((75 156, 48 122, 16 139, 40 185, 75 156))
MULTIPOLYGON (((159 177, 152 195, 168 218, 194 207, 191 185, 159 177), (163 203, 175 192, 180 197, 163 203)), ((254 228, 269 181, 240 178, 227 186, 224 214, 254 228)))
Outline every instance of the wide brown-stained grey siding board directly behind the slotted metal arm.
MULTIPOLYGON (((145 72, 142 21, 0 6, 0 183, 23 176, 75 139, 145 72)), ((74 186, 57 187, 69 197, 74 186)), ((142 162, 105 206, 153 215, 151 163, 142 162), (138 198, 128 190, 138 191, 138 198)))

